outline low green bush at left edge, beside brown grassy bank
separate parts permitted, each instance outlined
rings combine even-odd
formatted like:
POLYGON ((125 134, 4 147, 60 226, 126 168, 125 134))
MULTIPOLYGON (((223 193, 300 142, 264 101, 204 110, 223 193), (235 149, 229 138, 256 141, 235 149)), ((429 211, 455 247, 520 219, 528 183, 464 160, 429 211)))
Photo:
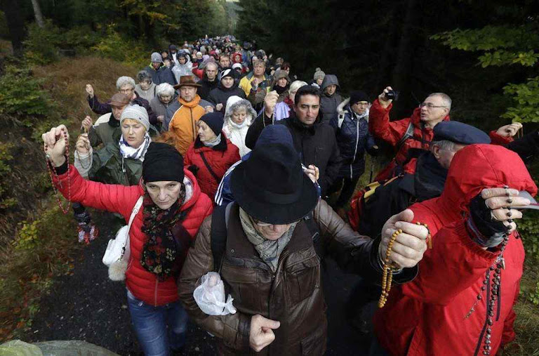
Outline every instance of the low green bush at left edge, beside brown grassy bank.
POLYGON ((50 114, 51 100, 40 84, 28 68, 7 66, 0 77, 0 119, 19 118, 31 126, 36 117, 50 114))

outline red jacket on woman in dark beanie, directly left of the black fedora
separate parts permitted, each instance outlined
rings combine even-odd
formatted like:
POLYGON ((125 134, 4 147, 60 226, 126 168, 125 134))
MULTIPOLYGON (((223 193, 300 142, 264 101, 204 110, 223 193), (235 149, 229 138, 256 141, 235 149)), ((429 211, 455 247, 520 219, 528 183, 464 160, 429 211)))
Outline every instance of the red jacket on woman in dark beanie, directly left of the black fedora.
MULTIPOLYGON (((225 133, 221 133, 221 138, 225 137, 225 133)), ((214 148, 206 147, 204 145, 201 145, 201 147, 194 147, 199 142, 200 140, 197 138, 197 140, 189 146, 189 149, 185 153, 185 157, 183 157, 183 164, 185 164, 186 167, 191 165, 199 167, 197 180, 199 181, 200 190, 213 199, 222 176, 225 176, 225 172, 232 166, 232 164, 240 160, 239 149, 234 143, 230 142, 229 139, 227 139, 227 148, 225 151, 214 150, 214 148), (211 169, 217 178, 214 178, 210 173, 208 167, 204 164, 204 159, 202 159, 201 154, 204 154, 206 161, 211 166, 211 169)))

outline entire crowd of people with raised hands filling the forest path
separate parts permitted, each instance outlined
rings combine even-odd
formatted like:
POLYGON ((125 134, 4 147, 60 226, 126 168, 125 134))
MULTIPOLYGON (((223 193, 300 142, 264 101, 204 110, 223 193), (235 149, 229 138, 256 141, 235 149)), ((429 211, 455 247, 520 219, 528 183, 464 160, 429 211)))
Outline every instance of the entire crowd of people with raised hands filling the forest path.
POLYGON ((100 117, 81 121, 73 165, 67 128, 43 135, 79 240, 98 232, 86 206, 128 222, 142 197, 122 278, 145 355, 181 350, 189 318, 223 355, 323 355, 330 257, 362 277, 350 286, 352 324, 385 300, 366 320, 371 355, 494 355, 514 339, 516 222, 539 209, 524 164, 537 131, 451 121, 446 93, 391 121, 390 86, 343 100, 334 74, 300 81, 283 58, 233 37, 149 59, 106 103, 86 86, 100 117), (366 154, 382 145, 394 157, 359 187, 366 154), (203 311, 196 291, 212 272, 234 308, 208 297, 219 311, 203 311))

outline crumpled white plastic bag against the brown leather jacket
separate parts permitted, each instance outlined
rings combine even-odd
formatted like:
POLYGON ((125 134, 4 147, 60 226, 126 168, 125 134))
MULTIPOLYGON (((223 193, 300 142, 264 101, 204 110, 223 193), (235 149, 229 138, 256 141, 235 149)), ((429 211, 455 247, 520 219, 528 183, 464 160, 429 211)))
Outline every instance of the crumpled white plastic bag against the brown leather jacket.
POLYGON ((218 272, 208 272, 200 277, 200 285, 194 289, 194 301, 207 315, 228 315, 236 313, 232 305, 234 298, 228 295, 225 302, 225 284, 218 272))

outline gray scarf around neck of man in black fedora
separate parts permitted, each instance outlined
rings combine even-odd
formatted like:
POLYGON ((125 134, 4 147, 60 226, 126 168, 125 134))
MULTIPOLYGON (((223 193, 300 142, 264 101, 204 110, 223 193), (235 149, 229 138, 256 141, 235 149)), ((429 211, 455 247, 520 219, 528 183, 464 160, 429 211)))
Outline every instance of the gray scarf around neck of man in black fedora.
POLYGON ((241 221, 241 228, 244 229, 245 235, 247 235, 247 239, 255 246, 255 250, 260 255, 260 258, 262 258, 262 261, 270 266, 272 272, 275 272, 277 270, 277 263, 279 263, 279 256, 281 256, 281 252, 288 242, 290 242, 295 226, 298 223, 293 223, 288 231, 279 237, 279 239, 269 240, 260 235, 255 229, 255 222, 251 216, 241 208, 239 209, 239 220, 241 221))

